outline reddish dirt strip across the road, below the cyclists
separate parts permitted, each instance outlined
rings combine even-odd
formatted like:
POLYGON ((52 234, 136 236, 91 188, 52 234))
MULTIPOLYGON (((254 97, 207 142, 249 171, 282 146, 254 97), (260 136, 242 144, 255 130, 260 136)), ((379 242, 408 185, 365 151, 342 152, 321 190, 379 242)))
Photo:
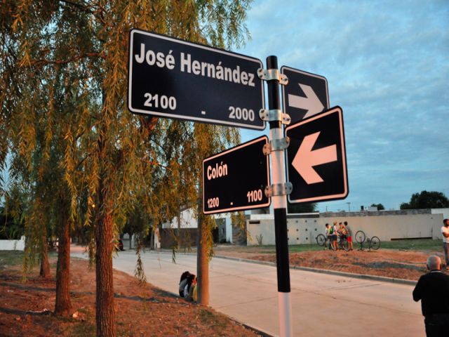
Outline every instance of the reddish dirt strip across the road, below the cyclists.
MULTIPOLYGON (((290 266, 313 267, 417 281, 421 275, 427 272, 426 260, 430 253, 438 255, 444 260, 443 253, 439 251, 397 251, 392 249, 348 252, 304 251, 290 253, 289 258, 290 266)), ((217 256, 232 256, 276 263, 276 255, 272 250, 264 252, 258 247, 248 250, 230 250, 218 247, 215 249, 215 254, 217 256)))

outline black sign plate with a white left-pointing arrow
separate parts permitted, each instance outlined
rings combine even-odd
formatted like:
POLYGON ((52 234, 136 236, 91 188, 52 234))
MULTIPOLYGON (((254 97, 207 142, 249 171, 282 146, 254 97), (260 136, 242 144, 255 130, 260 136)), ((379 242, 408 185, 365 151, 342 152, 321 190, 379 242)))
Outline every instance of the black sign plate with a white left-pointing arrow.
POLYGON ((286 128, 291 203, 344 199, 349 192, 341 107, 286 128))

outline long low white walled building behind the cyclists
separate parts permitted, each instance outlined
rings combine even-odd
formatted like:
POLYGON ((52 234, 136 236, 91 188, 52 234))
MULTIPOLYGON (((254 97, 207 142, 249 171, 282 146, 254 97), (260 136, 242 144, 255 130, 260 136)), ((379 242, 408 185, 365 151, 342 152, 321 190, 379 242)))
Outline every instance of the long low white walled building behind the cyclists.
MULTIPOLYGON (((326 212, 288 215, 288 244, 314 244, 330 225, 347 221, 352 235, 363 230, 368 237, 381 241, 394 239, 441 239, 443 218, 449 209, 413 209, 401 211, 326 212)), ((251 214, 246 221, 248 246, 275 244, 274 216, 251 214)))

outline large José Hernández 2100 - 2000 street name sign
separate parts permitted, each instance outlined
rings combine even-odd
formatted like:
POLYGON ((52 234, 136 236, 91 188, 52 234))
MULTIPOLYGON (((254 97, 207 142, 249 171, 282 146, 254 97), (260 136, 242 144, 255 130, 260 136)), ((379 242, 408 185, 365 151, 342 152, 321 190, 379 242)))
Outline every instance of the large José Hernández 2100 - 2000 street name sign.
POLYGON ((128 67, 131 112, 265 128, 257 58, 132 29, 128 67))

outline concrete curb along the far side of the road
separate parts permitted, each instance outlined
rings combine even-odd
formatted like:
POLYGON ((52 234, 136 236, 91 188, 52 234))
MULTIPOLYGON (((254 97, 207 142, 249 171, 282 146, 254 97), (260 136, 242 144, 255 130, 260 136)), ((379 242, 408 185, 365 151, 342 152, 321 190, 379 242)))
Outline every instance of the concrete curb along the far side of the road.
MULTIPOLYGON (((276 263, 274 263, 274 262, 250 260, 248 258, 233 258, 231 256, 219 256, 219 255, 214 256, 214 258, 224 258, 227 260, 234 260, 234 261, 240 261, 240 262, 246 262, 246 263, 255 263, 258 265, 271 265, 273 267, 276 267, 276 263)), ((396 279, 394 277, 366 275, 366 274, 354 274, 353 272, 339 272, 336 270, 317 269, 317 268, 312 268, 312 267, 292 266, 292 267, 290 267, 290 269, 291 270, 304 270, 306 272, 320 272, 322 274, 352 277, 354 279, 370 279, 373 281, 390 282, 390 283, 396 283, 396 284, 408 284, 410 286, 415 286, 415 284, 417 283, 417 281, 413 281, 411 279, 396 279)))

